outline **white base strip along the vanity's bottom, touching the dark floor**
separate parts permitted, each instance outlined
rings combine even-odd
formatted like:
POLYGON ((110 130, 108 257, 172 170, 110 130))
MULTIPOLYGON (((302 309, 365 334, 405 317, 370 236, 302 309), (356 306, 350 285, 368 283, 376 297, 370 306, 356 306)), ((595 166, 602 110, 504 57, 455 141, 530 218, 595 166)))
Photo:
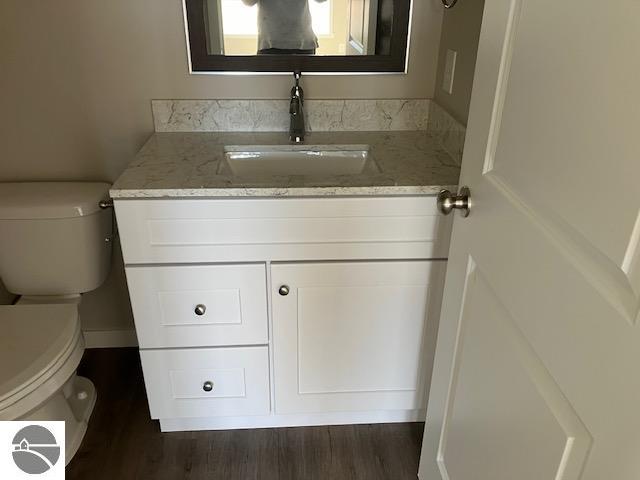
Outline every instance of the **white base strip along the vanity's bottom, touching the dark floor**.
POLYGON ((308 427, 366 423, 424 422, 425 410, 385 410, 379 412, 316 413, 251 417, 161 418, 163 432, 195 430, 238 430, 244 428, 308 427))

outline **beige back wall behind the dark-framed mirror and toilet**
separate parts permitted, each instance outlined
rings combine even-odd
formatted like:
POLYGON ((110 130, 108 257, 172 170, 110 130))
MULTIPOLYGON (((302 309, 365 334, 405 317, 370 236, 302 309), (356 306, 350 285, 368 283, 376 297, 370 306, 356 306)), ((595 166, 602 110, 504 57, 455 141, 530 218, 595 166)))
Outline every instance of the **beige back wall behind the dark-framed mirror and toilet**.
MULTIPOLYGON (((431 97, 441 20, 439 0, 416 0, 408 75, 307 77, 308 98, 431 97)), ((285 98, 291 86, 189 75, 181 0, 0 2, 0 68, 0 181, 113 181, 152 133, 151 99, 285 98)), ((115 266, 85 298, 85 326, 131 325, 115 266)))

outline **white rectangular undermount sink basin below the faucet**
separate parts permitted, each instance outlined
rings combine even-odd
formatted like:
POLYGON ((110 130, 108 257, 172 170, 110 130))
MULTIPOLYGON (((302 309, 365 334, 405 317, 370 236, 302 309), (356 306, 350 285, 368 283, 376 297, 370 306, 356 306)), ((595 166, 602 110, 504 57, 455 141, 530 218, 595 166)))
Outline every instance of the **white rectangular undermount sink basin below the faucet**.
POLYGON ((232 145, 219 174, 236 176, 379 173, 369 145, 232 145))

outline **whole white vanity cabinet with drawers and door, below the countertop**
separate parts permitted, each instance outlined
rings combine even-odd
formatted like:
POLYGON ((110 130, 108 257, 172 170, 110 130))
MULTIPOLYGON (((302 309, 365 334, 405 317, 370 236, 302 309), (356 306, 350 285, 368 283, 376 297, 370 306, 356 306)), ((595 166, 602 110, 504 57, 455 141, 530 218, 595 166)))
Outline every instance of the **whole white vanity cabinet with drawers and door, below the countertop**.
POLYGON ((424 419, 451 227, 435 197, 115 208, 162 430, 424 419))

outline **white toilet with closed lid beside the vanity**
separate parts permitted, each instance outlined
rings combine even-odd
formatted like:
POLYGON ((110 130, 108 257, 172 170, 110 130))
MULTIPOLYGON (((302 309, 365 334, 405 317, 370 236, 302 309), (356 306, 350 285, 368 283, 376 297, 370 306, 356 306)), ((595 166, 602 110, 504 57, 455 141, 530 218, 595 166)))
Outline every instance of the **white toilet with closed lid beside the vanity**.
POLYGON ((96 400, 76 375, 84 352, 80 294, 111 265, 110 185, 0 183, 0 278, 20 295, 0 306, 0 420, 64 420, 66 461, 96 400))

